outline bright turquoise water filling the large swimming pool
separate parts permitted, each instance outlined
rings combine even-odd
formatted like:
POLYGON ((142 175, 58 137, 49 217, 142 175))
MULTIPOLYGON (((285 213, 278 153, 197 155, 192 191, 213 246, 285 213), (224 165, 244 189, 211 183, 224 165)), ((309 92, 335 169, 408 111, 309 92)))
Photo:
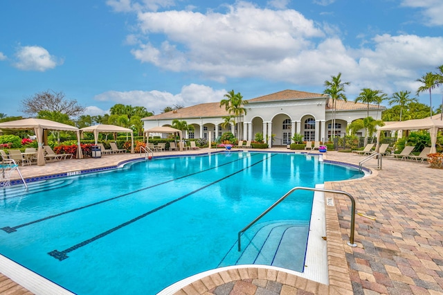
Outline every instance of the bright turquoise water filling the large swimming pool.
POLYGON ((284 251, 269 260, 251 249, 283 233, 305 249, 312 193, 263 217, 242 237, 243 252, 238 231, 294 186, 353 177, 357 170, 318 157, 230 152, 128 163, 28 193, 0 190, 0 253, 76 294, 156 294, 235 263, 288 267, 284 251))

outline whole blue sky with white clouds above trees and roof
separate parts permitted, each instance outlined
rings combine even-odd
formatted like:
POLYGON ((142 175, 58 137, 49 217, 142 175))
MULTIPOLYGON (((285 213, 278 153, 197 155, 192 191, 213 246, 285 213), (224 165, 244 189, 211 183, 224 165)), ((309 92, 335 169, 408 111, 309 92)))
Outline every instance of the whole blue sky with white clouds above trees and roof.
POLYGON ((348 100, 414 94, 443 64, 442 15, 441 0, 1 1, 0 113, 23 116, 21 100, 51 89, 85 114, 116 103, 160 114, 231 89, 322 93, 339 72, 348 100))

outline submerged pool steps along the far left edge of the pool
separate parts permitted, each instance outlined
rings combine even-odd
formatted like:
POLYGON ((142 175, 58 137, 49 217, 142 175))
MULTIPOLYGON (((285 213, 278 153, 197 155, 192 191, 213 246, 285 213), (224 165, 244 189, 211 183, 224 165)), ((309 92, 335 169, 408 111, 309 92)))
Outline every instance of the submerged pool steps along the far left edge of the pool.
POLYGON ((53 188, 62 188, 72 183, 72 179, 36 181, 28 184, 28 189, 26 190, 23 186, 8 186, 8 188, 0 189, 0 198, 21 197, 29 193, 39 193, 44 190, 52 190, 53 188))

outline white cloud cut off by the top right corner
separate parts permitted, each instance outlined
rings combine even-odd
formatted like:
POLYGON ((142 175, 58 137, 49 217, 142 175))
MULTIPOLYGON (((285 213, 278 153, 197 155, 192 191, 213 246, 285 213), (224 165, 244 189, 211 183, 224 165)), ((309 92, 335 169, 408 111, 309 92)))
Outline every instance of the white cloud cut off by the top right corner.
POLYGON ((426 26, 443 26, 443 1, 403 0, 401 6, 422 8, 422 23, 426 26))

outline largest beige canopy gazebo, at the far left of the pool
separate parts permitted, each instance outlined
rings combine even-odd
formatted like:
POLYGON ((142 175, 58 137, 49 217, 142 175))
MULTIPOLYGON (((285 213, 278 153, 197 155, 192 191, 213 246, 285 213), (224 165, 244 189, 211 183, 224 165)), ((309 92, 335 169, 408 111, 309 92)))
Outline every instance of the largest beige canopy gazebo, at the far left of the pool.
POLYGON ((77 159, 83 159, 82 147, 80 146, 80 129, 77 127, 46 119, 28 118, 0 123, 0 129, 34 130, 38 143, 37 166, 44 166, 46 163, 43 151, 46 130, 73 131, 77 134, 77 159))

